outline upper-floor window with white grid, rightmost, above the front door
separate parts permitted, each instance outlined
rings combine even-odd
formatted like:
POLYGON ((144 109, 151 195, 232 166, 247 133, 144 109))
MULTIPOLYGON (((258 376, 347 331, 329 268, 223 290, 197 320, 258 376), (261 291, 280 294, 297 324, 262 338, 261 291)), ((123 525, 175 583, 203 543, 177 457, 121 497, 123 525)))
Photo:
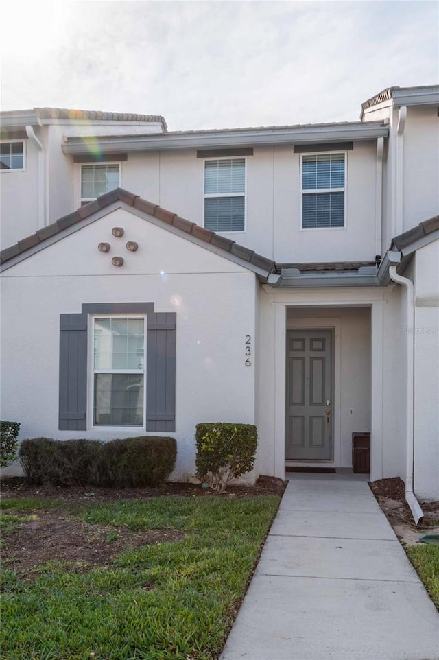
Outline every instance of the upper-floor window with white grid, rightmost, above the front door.
POLYGON ((345 154, 302 156, 302 228, 344 227, 345 154))

